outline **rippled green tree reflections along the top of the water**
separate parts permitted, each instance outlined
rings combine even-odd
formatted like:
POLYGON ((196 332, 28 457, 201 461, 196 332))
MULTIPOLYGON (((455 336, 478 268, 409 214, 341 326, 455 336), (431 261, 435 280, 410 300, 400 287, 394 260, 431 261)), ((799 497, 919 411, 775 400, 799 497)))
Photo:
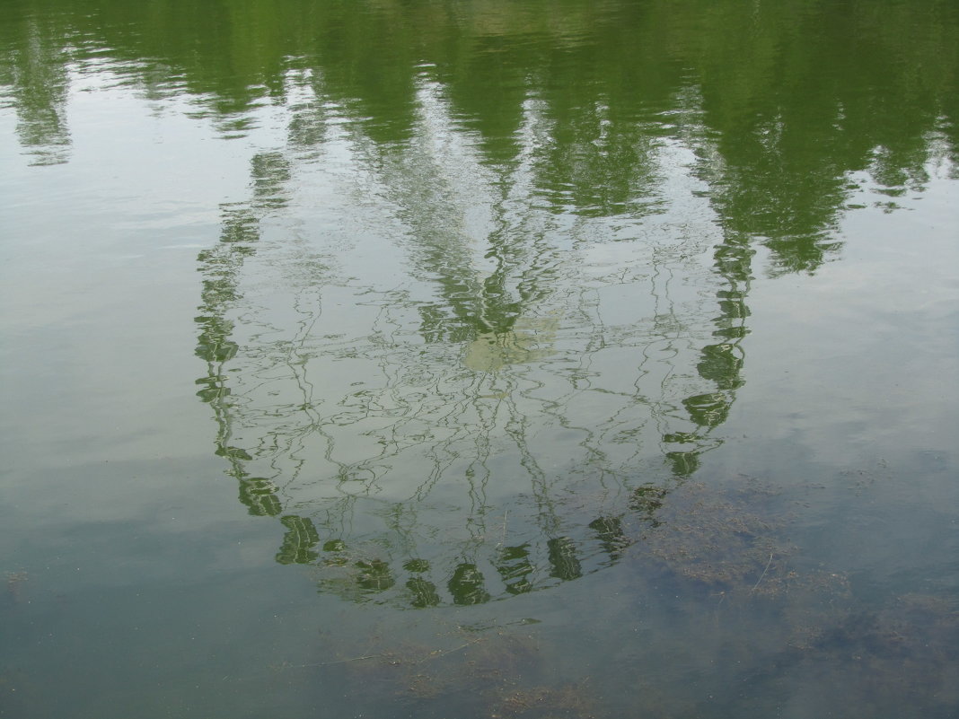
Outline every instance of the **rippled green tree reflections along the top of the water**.
MULTIPOLYGON (((884 3, 877 14, 869 0, 656 0, 642 11, 622 0, 532 0, 456 12, 427 2, 104 0, 76 12, 69 0, 21 0, 0 15, 0 84, 13 88, 21 141, 54 146, 67 137, 66 63, 87 52, 109 48, 118 72, 161 97, 193 94, 227 132, 243 131, 263 100, 283 100, 288 70, 310 70, 388 146, 409 139, 427 78, 499 165, 517 161, 532 97, 552 138, 533 158, 536 187, 556 211, 604 217, 642 212, 662 132, 651 120, 691 102, 681 109, 696 110, 714 138, 714 152, 699 149, 718 159, 704 159, 702 172, 724 227, 767 243, 779 271, 809 271, 833 249, 826 235, 846 174, 919 187, 931 133, 957 154, 959 19, 950 3, 884 3), (59 12, 39 11, 50 7, 59 12)), ((295 146, 323 137, 314 120, 296 114, 295 146)), ((258 162, 267 204, 282 203, 269 183, 289 173, 284 162, 272 152, 258 162)))

